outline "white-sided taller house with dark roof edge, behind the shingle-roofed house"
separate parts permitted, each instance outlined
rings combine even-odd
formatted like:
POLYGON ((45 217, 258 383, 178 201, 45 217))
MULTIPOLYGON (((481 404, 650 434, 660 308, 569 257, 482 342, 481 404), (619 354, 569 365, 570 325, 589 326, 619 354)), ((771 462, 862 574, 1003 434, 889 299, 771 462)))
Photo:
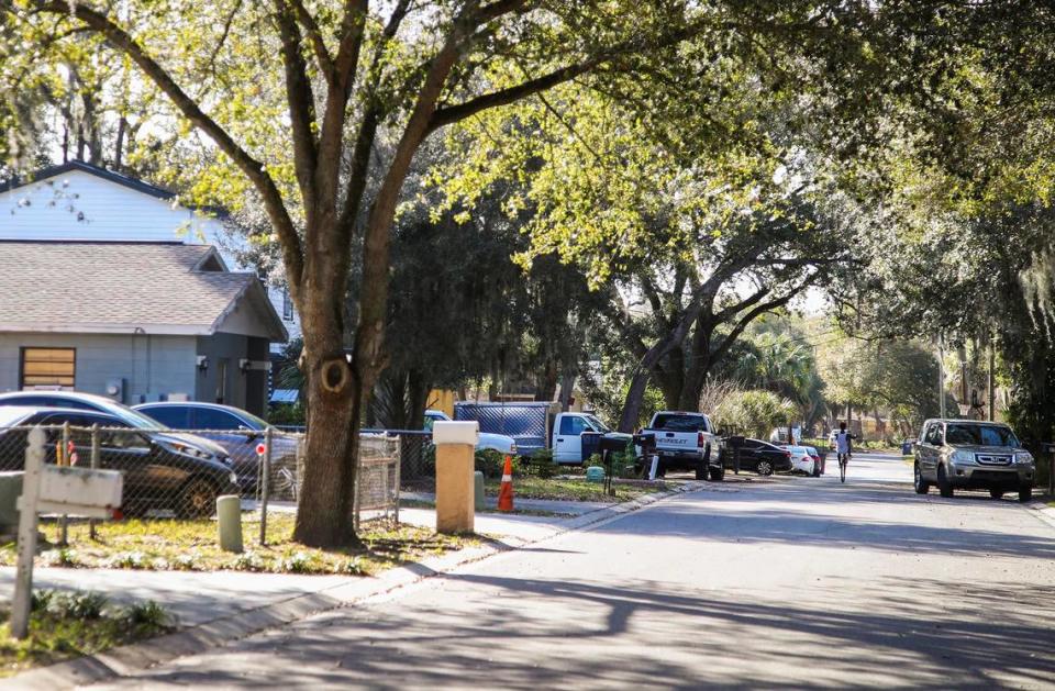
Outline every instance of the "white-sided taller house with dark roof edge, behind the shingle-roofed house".
MULTIPOLYGON (((215 246, 226 266, 252 269, 225 250, 232 242, 222 211, 189 209, 175 200, 168 190, 74 160, 0 187, 0 241, 204 244, 215 246)), ((288 291, 269 286, 267 294, 290 338, 298 337, 288 291)), ((273 343, 271 352, 281 347, 273 343)))

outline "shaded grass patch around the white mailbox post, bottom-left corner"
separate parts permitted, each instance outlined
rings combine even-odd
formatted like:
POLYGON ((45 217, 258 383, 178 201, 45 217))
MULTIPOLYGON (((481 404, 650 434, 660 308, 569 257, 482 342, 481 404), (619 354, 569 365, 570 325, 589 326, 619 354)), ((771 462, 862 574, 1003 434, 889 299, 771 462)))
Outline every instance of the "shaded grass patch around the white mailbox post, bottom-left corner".
POLYGON ((11 612, 0 606, 0 677, 54 665, 171 631, 170 618, 153 603, 119 606, 99 593, 33 593, 30 635, 15 640, 11 612))

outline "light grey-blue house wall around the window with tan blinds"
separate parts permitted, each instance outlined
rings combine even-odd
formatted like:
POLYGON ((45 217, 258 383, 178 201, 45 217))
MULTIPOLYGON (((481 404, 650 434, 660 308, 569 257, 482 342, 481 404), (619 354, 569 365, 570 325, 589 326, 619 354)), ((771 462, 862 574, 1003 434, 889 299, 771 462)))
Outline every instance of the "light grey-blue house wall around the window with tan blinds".
POLYGON ((193 336, 0 333, 0 391, 19 389, 23 347, 77 348, 74 388, 86 393, 104 395, 114 379, 127 404, 195 393, 193 336))

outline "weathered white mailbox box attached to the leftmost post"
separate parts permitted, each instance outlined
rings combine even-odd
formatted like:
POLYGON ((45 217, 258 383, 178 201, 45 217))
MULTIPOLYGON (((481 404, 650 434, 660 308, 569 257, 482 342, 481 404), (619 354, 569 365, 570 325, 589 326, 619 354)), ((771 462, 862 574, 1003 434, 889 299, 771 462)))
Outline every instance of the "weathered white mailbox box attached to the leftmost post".
POLYGON ((36 511, 109 519, 121 506, 122 489, 116 470, 43 466, 36 511))

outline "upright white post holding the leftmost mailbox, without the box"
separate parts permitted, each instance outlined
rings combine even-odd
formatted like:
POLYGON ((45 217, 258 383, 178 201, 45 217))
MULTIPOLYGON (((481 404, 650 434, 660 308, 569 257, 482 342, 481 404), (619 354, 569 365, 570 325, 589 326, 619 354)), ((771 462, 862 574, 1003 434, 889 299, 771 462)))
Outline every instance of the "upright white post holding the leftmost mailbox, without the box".
POLYGON ((44 431, 33 427, 25 448, 25 473, 19 499, 19 561, 11 603, 11 635, 25 638, 30 632, 30 604, 33 600, 33 558, 36 556, 36 500, 44 465, 44 431))

